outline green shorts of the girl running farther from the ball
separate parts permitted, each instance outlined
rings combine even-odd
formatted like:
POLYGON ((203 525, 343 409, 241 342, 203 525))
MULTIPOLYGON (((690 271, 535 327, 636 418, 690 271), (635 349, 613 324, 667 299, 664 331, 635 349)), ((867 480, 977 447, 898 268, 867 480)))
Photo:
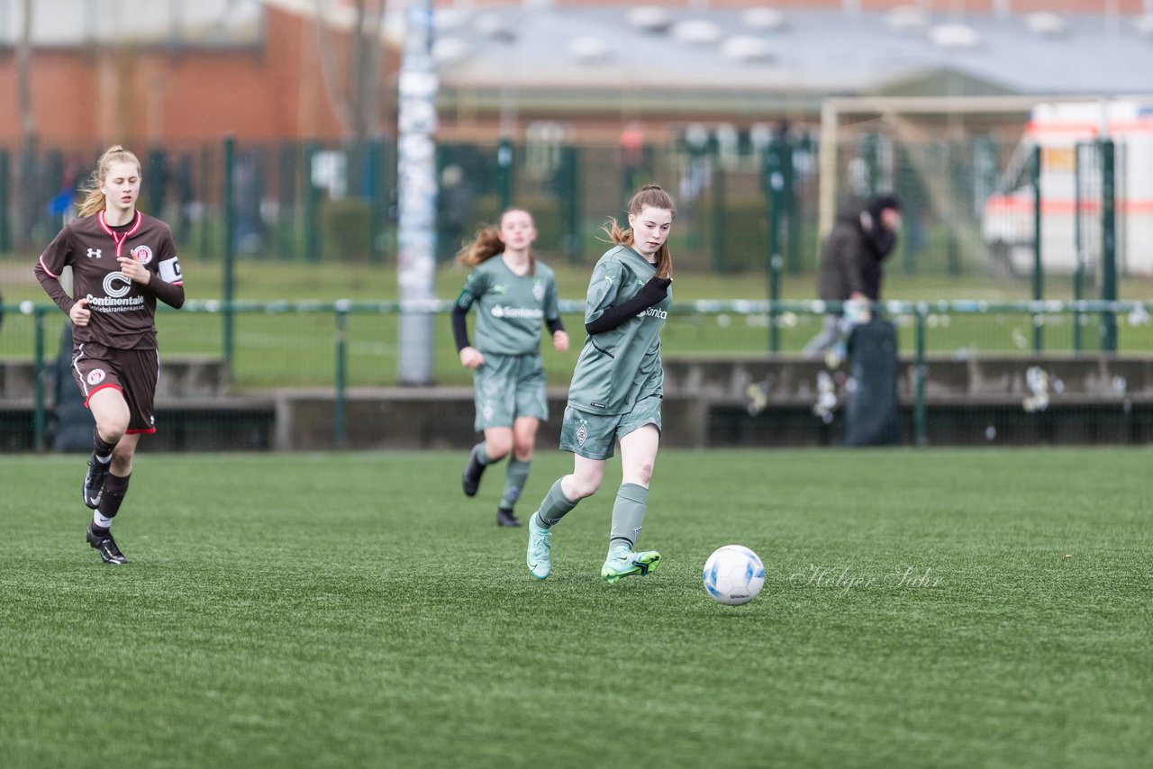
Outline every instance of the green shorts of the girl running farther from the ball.
POLYGON ((544 361, 540 353, 484 353, 484 365, 473 371, 476 431, 511 428, 518 416, 549 419, 544 397, 544 361))

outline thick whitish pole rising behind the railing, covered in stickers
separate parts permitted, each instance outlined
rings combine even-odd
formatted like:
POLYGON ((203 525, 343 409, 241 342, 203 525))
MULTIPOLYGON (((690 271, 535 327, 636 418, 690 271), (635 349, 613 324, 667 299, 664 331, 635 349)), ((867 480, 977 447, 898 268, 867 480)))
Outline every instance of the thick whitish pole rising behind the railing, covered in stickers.
MULTIPOLYGON (((437 180, 432 135, 439 82, 431 55, 432 0, 408 0, 405 22, 397 112, 397 281, 402 303, 435 299, 437 180)), ((421 309, 401 310, 399 325, 398 378, 401 384, 428 384, 432 379, 432 315, 421 309)))

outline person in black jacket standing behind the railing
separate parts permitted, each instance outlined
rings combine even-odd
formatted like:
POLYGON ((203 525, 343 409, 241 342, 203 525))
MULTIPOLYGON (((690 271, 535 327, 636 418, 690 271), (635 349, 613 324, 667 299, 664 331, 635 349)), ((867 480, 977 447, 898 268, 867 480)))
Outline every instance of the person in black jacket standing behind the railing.
MULTIPOLYGON (((826 302, 880 301, 882 263, 896 247, 899 229, 900 201, 896 195, 877 195, 868 204, 852 196, 843 198, 821 256, 821 299, 826 302)), ((867 306, 845 309, 850 323, 869 318, 867 306)), ((843 344, 847 331, 843 315, 838 310, 824 316, 824 325, 805 346, 805 355, 817 357, 843 344)))

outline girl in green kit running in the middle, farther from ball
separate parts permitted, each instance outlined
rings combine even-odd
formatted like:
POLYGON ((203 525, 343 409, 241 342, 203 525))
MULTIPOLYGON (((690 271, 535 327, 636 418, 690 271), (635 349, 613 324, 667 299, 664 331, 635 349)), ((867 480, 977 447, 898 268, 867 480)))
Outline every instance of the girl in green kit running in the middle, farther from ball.
POLYGON ((476 240, 458 259, 473 269, 452 312, 452 332, 460 363, 473 370, 476 431, 484 440, 473 446, 461 485, 476 493, 489 465, 512 453, 505 469, 497 523, 520 526, 513 505, 528 478, 536 429, 549 416, 541 361, 541 322, 552 346, 568 349, 560 324, 557 281, 532 254, 536 240, 533 217, 522 209, 500 214, 495 227, 477 231, 476 240), (500 257, 500 258, 493 258, 500 257), (476 340, 468 341, 465 314, 476 307, 476 340))

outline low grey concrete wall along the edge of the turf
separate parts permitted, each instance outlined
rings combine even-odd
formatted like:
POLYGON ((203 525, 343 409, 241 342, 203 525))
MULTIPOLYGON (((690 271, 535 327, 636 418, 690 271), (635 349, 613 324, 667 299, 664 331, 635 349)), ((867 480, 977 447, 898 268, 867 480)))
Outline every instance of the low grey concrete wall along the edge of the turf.
MULTIPOLYGON (((926 374, 932 445, 1153 443, 1153 357, 930 357, 926 374)), ((332 390, 235 394, 227 379, 223 361, 166 357, 148 450, 338 447, 332 390)), ((30 364, 0 372, 0 450, 32 448, 32 382, 30 364)), ((917 367, 903 357, 897 390, 906 444, 914 442, 915 383, 917 367)), ((847 386, 846 370, 797 357, 670 357, 662 445, 839 445, 847 386), (822 375, 836 395, 824 419, 815 408, 822 375)), ((565 389, 549 391, 552 419, 540 446, 557 445, 565 399, 565 389)), ((470 387, 354 389, 344 408, 347 448, 465 448, 477 439, 470 387)))

